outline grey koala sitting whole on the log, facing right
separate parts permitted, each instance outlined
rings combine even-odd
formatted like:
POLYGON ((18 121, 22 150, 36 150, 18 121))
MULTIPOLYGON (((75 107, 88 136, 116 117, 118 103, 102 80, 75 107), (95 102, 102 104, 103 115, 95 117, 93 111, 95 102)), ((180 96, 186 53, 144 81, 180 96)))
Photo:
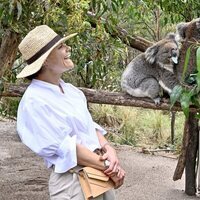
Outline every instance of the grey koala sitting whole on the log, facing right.
POLYGON ((168 34, 127 65, 121 77, 122 91, 134 97, 149 97, 155 104, 160 103, 162 89, 171 93, 178 84, 174 75, 179 56, 175 37, 168 34))

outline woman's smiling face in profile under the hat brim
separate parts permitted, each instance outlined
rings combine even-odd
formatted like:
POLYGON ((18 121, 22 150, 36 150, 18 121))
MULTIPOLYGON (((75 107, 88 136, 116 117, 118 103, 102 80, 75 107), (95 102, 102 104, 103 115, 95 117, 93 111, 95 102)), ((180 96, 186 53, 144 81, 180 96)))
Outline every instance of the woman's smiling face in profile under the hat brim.
POLYGON ((59 44, 49 54, 44 67, 55 74, 62 74, 74 68, 74 63, 70 59, 71 47, 64 43, 59 44))

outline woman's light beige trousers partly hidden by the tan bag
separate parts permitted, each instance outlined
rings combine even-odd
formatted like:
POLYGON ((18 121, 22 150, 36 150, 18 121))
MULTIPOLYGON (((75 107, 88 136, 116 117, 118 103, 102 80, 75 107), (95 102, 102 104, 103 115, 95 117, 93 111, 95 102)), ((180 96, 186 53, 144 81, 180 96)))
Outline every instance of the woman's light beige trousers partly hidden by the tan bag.
MULTIPOLYGON (((83 192, 76 173, 58 174, 52 170, 49 179, 51 200, 84 200, 83 192)), ((115 200, 114 190, 100 195, 93 200, 115 200)))

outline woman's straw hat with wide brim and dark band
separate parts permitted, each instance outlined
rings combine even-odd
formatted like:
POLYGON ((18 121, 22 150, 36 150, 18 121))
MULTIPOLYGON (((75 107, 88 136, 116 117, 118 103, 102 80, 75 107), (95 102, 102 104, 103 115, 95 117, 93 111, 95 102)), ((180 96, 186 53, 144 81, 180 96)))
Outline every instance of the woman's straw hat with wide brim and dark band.
POLYGON ((34 28, 19 44, 19 51, 27 65, 17 75, 17 78, 27 77, 38 72, 51 51, 75 35, 77 33, 62 38, 47 25, 34 28))

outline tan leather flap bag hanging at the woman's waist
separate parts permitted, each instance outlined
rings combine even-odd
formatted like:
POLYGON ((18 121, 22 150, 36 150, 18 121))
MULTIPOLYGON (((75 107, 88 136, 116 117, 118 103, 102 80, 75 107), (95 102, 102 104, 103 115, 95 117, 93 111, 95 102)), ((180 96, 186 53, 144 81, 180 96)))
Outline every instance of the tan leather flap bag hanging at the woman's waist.
POLYGON ((113 181, 101 170, 84 167, 79 171, 78 176, 86 200, 114 188, 113 181))

